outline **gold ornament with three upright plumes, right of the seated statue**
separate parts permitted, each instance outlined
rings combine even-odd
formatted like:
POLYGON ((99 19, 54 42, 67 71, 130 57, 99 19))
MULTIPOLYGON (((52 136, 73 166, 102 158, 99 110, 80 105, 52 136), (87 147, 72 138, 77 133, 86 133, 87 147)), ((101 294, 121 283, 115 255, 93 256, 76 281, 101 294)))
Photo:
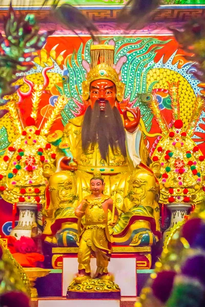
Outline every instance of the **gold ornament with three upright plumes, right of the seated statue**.
POLYGON ((199 95, 196 97, 193 116, 186 125, 188 120, 183 122, 180 118, 179 85, 179 81, 169 83, 173 125, 168 126, 158 103, 153 102, 152 111, 162 130, 162 138, 153 153, 151 167, 159 178, 160 203, 200 205, 204 198, 205 157, 191 137, 204 107, 204 100, 199 95), (160 173, 155 169, 156 163, 161 166, 160 173))

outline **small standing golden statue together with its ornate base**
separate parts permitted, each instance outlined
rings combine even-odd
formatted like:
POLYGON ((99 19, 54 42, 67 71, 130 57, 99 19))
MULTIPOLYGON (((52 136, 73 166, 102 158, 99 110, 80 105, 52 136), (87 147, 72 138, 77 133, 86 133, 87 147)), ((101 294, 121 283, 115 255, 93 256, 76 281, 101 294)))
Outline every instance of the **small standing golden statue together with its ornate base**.
POLYGON ((78 248, 78 275, 68 287, 67 298, 88 298, 98 292, 99 297, 120 298, 120 289, 108 274, 108 264, 112 246, 109 227, 116 225, 118 211, 109 195, 104 194, 103 178, 94 176, 90 181, 91 195, 85 197, 75 209, 78 217, 80 243, 78 248), (108 212, 112 212, 112 220, 108 226, 108 212), (85 216, 83 231, 80 230, 81 218, 85 216), (91 276, 91 254, 96 257, 97 270, 91 276), (98 289, 98 291, 96 291, 98 289))

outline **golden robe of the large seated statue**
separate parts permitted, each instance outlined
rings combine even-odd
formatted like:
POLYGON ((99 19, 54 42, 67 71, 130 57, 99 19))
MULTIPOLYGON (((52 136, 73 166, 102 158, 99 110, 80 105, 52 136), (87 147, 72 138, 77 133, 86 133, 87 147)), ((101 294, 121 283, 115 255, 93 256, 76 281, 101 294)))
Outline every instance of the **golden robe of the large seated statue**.
POLYGON ((159 206, 155 201, 159 184, 152 170, 146 166, 147 148, 140 128, 133 134, 126 131, 127 158, 119 149, 114 152, 110 149, 105 161, 100 156, 98 144, 90 146, 86 152, 82 150, 82 123, 83 116, 80 116, 69 120, 65 126, 59 148, 69 148, 78 166, 75 172, 61 170, 59 162, 65 155, 59 149, 56 157, 57 169, 50 177, 46 191, 45 212, 48 218, 44 234, 53 235, 59 229, 68 228, 67 222, 70 223, 70 228, 77 229, 74 209, 89 195, 93 173, 100 172, 105 180, 105 193, 113 196, 116 189, 116 207, 121 215, 114 228, 115 242, 123 241, 120 233, 124 232, 123 236, 128 244, 132 240, 134 229, 133 226, 130 227, 130 223, 137 220, 142 222, 140 228, 150 228, 160 236, 159 206))

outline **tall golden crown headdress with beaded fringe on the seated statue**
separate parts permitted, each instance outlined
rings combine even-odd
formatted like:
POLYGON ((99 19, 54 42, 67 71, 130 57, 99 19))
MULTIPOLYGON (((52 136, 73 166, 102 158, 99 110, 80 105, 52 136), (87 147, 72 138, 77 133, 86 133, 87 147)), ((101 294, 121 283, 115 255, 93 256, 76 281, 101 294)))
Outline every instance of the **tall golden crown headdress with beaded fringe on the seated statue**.
POLYGON ((87 74, 86 81, 83 81, 82 97, 88 100, 90 96, 90 83, 98 79, 111 80, 116 86, 117 101, 122 101, 125 84, 119 79, 119 75, 113 68, 114 46, 113 45, 92 45, 91 46, 91 69, 87 74))

